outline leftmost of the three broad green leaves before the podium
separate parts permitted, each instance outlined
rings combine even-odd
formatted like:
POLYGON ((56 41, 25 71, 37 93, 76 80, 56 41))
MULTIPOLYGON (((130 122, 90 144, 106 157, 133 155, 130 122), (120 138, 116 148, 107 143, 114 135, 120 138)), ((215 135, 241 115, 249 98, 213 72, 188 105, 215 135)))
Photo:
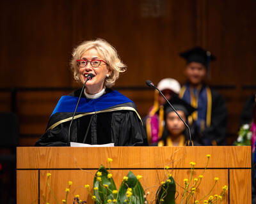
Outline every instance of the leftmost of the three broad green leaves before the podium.
POLYGON ((96 196, 97 200, 95 203, 107 203, 107 200, 113 200, 114 196, 112 191, 116 190, 116 184, 112 178, 108 179, 108 170, 104 166, 100 166, 99 170, 96 172, 94 180, 93 180, 93 194, 96 196), (101 172, 102 175, 99 176, 101 178, 101 182, 97 180, 97 173, 101 172), (108 187, 104 187, 104 185, 108 185, 108 187), (98 187, 99 190, 94 190, 95 187, 98 187))

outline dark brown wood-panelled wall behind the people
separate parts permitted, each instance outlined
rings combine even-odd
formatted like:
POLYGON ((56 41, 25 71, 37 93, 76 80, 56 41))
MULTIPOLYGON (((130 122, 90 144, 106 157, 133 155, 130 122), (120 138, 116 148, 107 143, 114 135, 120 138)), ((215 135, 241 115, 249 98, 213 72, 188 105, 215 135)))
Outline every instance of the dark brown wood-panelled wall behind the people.
POLYGON ((129 89, 118 90, 144 116, 154 95, 143 88, 145 80, 184 83, 179 52, 200 45, 217 57, 209 84, 227 102, 231 143, 243 105, 256 91, 255 7, 253 0, 1 0, 0 111, 12 110, 10 88, 18 87, 20 145, 33 145, 60 96, 71 91, 62 88, 78 86, 68 69, 72 48, 104 38, 128 66, 116 86, 129 89))

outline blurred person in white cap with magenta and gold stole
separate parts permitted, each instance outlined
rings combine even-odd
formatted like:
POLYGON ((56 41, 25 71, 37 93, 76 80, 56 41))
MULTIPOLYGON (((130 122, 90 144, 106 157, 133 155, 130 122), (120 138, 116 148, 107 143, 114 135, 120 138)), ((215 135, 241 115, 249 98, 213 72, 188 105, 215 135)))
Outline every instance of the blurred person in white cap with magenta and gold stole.
MULTIPOLYGON (((180 84, 173 78, 164 78, 158 84, 157 88, 163 92, 166 99, 170 100, 172 96, 177 96, 180 92, 180 84)), ((149 143, 156 143, 163 133, 164 128, 164 108, 163 96, 155 90, 154 105, 150 108, 148 115, 143 119, 143 124, 147 131, 149 143)))

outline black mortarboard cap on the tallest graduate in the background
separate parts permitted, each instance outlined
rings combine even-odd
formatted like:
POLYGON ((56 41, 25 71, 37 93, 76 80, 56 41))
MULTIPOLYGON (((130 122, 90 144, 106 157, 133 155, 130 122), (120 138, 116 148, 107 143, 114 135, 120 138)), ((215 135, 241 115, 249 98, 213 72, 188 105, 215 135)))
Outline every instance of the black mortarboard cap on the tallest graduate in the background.
POLYGON ((180 57, 186 59, 187 63, 199 62, 204 64, 208 68, 209 62, 216 60, 216 57, 211 54, 211 52, 204 50, 201 47, 195 47, 186 52, 181 52, 180 57))

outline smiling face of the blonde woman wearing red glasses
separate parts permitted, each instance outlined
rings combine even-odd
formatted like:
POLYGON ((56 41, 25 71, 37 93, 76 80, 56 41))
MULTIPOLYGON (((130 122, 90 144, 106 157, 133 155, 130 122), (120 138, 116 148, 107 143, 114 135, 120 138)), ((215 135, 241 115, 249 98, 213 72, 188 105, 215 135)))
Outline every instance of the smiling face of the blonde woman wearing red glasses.
MULTIPOLYGON (((104 60, 95 48, 86 50, 82 54, 81 59, 86 61, 92 61, 93 59, 104 60)), ((104 80, 107 75, 111 75, 112 70, 105 62, 100 62, 100 66, 97 68, 93 68, 90 62, 88 62, 85 67, 79 68, 79 77, 83 84, 87 78, 87 75, 90 73, 92 73, 94 77, 86 82, 86 92, 88 92, 88 94, 97 94, 103 89, 104 80)))

